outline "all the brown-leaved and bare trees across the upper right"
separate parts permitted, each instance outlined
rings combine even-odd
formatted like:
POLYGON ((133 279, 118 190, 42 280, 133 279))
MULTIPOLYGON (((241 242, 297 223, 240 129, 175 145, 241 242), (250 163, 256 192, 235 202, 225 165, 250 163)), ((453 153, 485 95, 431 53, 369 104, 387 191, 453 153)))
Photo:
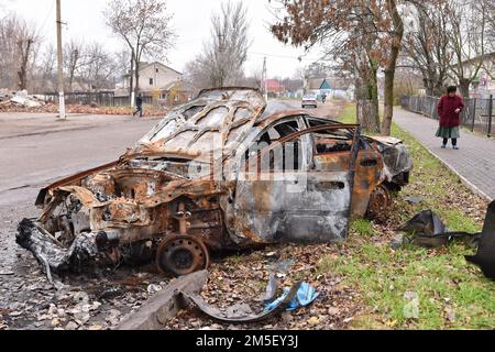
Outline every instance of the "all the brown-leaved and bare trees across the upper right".
MULTIPOLYGON (((270 1, 270 0, 268 0, 270 1)), ((483 61, 495 51, 493 0, 272 0, 272 26, 284 43, 307 50, 319 44, 336 72, 356 82, 359 121, 391 134, 398 67, 421 75, 428 95, 448 82, 469 97, 483 61), (378 77, 385 76, 384 117, 378 77)))

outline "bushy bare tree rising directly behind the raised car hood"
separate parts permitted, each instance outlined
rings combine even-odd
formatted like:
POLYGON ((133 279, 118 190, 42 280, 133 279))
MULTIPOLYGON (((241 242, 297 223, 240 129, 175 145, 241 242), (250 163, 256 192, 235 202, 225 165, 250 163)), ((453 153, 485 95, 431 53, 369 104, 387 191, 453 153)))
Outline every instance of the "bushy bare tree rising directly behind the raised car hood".
POLYGON ((251 46, 246 8, 241 1, 223 2, 221 12, 211 16, 211 41, 204 53, 189 63, 186 73, 196 85, 223 87, 237 85, 244 78, 244 63, 251 46))

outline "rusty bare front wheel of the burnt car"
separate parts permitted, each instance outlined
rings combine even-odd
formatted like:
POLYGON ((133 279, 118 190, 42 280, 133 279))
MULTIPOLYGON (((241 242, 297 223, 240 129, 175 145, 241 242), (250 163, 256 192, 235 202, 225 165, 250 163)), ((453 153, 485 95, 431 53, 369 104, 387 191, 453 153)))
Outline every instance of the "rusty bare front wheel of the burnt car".
POLYGON ((189 275, 210 266, 210 254, 205 243, 188 235, 173 237, 158 245, 156 266, 174 276, 189 275))

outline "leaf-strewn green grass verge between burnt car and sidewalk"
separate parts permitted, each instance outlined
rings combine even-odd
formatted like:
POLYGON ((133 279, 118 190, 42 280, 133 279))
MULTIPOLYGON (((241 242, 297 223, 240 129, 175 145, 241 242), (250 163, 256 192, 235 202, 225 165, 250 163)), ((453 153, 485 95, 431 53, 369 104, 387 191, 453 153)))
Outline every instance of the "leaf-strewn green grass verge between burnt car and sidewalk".
MULTIPOLYGON (((355 108, 345 108, 341 120, 354 122, 355 108)), ((354 221, 344 253, 321 258, 319 273, 337 275, 361 293, 365 311, 350 328, 493 329, 495 284, 464 260, 472 249, 463 243, 436 250, 391 249, 394 229, 421 210, 432 209, 451 230, 469 232, 481 231, 486 210, 486 202, 410 134, 394 124, 393 135, 405 142, 414 160, 410 185, 397 195, 384 223, 354 221), (408 196, 422 202, 409 205, 408 196), (418 309, 416 317, 407 314, 411 305, 418 309)))

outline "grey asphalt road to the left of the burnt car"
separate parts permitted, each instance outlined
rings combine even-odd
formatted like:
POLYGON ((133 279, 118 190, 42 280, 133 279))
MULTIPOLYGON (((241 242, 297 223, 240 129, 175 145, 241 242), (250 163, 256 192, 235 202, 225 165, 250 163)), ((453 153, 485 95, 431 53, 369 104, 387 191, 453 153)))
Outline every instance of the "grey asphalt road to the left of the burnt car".
POLYGON ((0 113, 0 273, 15 260, 14 234, 41 188, 95 166, 116 161, 158 119, 0 113))

